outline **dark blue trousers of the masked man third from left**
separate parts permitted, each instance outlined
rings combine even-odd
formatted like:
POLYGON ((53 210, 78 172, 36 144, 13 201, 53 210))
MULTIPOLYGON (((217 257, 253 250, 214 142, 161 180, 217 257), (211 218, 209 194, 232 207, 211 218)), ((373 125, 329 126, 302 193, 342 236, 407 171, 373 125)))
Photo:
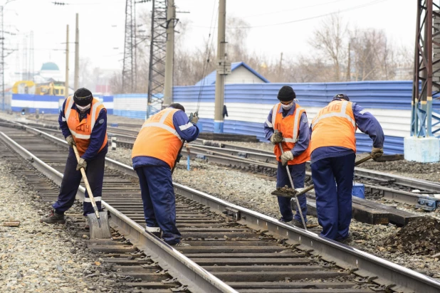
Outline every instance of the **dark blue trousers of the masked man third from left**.
MULTIPOLYGON (((304 187, 305 179, 305 163, 298 165, 288 165, 290 175, 292 176, 293 185, 295 188, 304 187)), ((278 171, 276 173, 276 187, 284 186, 292 187, 290 185, 290 180, 287 174, 286 166, 283 166, 281 162, 278 162, 278 171)), ((303 217, 305 222, 307 222, 307 203, 305 201, 305 194, 298 196, 298 202, 300 203, 301 211, 303 212, 303 217)), ((292 208, 290 206, 290 198, 285 198, 283 196, 278 196, 278 206, 280 207, 281 219, 285 222, 290 222, 293 219, 292 208)), ((301 221, 301 216, 299 211, 295 213, 295 220, 301 221)))

